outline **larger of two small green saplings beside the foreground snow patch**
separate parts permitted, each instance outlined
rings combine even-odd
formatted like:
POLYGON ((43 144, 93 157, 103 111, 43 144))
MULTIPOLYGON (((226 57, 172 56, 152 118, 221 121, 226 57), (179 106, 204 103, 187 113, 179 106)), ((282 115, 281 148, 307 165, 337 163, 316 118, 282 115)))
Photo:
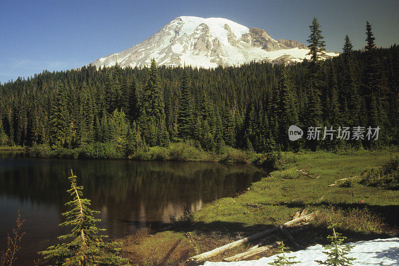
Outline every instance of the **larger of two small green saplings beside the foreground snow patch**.
POLYGON ((335 232, 335 228, 338 227, 339 224, 332 223, 328 228, 333 229, 333 234, 329 235, 327 238, 331 239, 331 244, 324 246, 325 251, 323 252, 328 256, 328 259, 325 262, 315 261, 321 265, 331 265, 331 266, 350 266, 353 265, 352 261, 356 260, 355 258, 347 258, 346 256, 352 250, 353 246, 342 245, 346 237, 342 237, 340 233, 335 232))

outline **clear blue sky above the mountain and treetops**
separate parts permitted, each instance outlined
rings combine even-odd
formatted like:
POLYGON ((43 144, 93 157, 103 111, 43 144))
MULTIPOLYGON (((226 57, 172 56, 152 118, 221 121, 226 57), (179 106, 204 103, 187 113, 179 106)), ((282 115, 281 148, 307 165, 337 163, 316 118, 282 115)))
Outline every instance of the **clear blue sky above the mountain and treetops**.
POLYGON ((378 46, 399 43, 399 0, 0 0, 0 82, 121 52, 181 15, 223 17, 305 44, 316 16, 327 50, 338 52, 346 34, 355 49, 365 45, 369 20, 378 46))

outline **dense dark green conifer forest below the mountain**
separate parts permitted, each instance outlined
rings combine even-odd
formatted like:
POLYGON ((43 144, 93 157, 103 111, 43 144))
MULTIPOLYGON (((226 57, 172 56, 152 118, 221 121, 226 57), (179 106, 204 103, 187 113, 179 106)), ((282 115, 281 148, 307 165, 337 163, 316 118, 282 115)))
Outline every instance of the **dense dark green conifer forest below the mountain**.
POLYGON ((324 49, 312 22, 310 60, 289 65, 251 62, 204 69, 83 66, 43 71, 0 85, 0 145, 77 148, 108 143, 128 156, 190 139, 204 150, 225 145, 256 152, 336 149, 399 143, 399 47, 367 44, 321 60, 324 49), (288 127, 305 137, 288 139, 288 127), (320 140, 306 129, 322 127, 320 140), (378 140, 321 140, 324 127, 379 126, 378 140))

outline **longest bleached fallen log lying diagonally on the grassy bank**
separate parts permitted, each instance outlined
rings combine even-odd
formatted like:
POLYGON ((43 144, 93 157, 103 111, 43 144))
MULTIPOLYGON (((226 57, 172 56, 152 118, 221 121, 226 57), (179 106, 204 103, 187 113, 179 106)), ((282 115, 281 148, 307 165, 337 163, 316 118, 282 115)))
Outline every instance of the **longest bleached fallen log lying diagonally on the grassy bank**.
POLYGON ((309 220, 310 218, 312 218, 314 216, 314 214, 315 213, 311 213, 309 215, 306 215, 306 216, 303 216, 303 217, 288 221, 287 223, 284 223, 284 224, 282 224, 280 226, 276 226, 276 227, 267 229, 265 231, 256 233, 256 234, 254 234, 252 236, 249 236, 249 237, 234 241, 232 243, 226 244, 226 245, 224 245, 222 247, 219 247, 219 248, 216 248, 214 250, 211 250, 211 251, 208 251, 208 252, 193 256, 193 257, 189 258, 188 260, 191 261, 191 262, 203 262, 207 258, 216 256, 216 255, 218 255, 218 254, 220 254, 222 252, 225 252, 227 250, 231 250, 232 248, 238 247, 238 246, 240 246, 240 245, 242 245, 244 243, 247 243, 249 241, 252 241, 252 240, 255 240, 255 239, 259 239, 259 238, 262 238, 264 236, 267 236, 267 235, 270 235, 270 234, 273 234, 273 233, 277 233, 280 230, 280 227, 288 227, 288 226, 296 224, 298 222, 301 222, 301 221, 304 221, 304 220, 309 220))

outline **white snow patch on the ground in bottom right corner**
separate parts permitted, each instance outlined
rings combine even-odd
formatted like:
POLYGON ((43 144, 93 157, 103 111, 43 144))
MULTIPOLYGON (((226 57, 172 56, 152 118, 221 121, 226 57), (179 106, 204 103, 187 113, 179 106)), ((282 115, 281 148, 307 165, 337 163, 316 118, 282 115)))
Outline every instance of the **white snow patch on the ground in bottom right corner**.
MULTIPOLYGON (((355 245, 348 255, 349 257, 356 258, 356 261, 353 261, 354 266, 399 265, 399 238, 376 239, 348 244, 355 245)), ((286 256, 296 256, 294 260, 301 263, 294 264, 295 266, 316 266, 319 264, 317 264, 315 260, 325 261, 327 259, 327 255, 325 255, 323 251, 326 250, 321 245, 316 245, 306 250, 291 252, 286 254, 286 256)), ((257 261, 232 263, 206 262, 204 266, 266 266, 268 263, 273 262, 276 256, 277 255, 269 258, 261 258, 257 261)))

